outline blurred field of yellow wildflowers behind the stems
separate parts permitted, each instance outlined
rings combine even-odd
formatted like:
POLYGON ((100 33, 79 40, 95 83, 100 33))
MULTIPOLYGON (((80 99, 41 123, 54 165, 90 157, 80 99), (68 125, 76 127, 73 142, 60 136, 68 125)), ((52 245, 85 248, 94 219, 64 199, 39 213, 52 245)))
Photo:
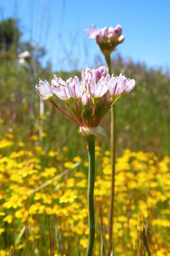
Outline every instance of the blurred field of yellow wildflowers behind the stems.
MULTIPOLYGON (((57 237, 55 255, 63 255, 67 243, 70 252, 84 255, 88 243, 87 160, 75 154, 71 161, 64 147, 61 154, 46 152, 48 163, 42 168, 44 149, 37 145, 28 150, 20 141, 14 151, 13 138, 8 133, 0 141, 1 244, 4 241, 0 255, 14 251, 15 255, 50 253, 47 211, 57 237), (28 248, 30 254, 25 254, 28 248)), ((95 151, 94 250, 100 255, 101 241, 107 250, 109 239, 111 164, 109 151, 102 156, 97 145, 95 151)), ((158 161, 153 152, 126 149, 116 162, 115 255, 134 255, 145 240, 151 255, 170 255, 169 197, 170 158, 158 161)))

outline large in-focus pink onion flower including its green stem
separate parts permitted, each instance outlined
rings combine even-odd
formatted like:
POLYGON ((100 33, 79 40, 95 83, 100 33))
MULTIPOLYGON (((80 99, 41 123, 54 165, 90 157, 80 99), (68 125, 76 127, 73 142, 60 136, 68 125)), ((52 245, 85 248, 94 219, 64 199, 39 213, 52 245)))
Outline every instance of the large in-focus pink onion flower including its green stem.
POLYGON ((94 218, 94 181, 95 181, 95 136, 105 136, 104 129, 99 126, 101 119, 112 108, 116 101, 129 93, 135 86, 134 79, 127 79, 122 74, 110 77, 105 66, 98 69, 82 70, 81 81, 78 77, 63 81, 54 76, 51 85, 45 80, 39 81, 35 89, 44 100, 49 100, 65 115, 80 127, 80 133, 86 136, 89 150, 88 210, 89 210, 89 241, 86 256, 93 252, 95 238, 94 218), (53 100, 53 93, 64 100, 73 117, 59 108, 53 100), (72 101, 72 104, 71 104, 72 101))

